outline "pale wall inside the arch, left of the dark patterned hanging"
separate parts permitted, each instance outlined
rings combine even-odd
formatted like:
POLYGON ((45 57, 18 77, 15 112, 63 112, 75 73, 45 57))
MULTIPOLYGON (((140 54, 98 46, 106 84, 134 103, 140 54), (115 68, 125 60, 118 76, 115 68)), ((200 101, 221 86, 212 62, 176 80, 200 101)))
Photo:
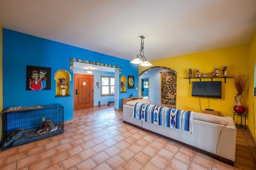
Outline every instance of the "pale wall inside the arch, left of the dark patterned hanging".
POLYGON ((160 105, 160 95, 161 95, 161 79, 160 79, 160 71, 168 71, 167 69, 163 68, 156 68, 148 70, 144 72, 140 76, 140 83, 141 78, 149 78, 150 88, 148 90, 149 99, 152 104, 160 105))

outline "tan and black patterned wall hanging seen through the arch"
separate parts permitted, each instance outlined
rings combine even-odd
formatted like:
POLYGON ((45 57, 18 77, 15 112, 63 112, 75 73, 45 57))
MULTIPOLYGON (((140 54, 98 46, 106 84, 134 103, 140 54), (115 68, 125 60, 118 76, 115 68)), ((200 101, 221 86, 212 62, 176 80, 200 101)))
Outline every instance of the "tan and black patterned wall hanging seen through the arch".
POLYGON ((177 75, 172 71, 160 72, 161 104, 176 106, 177 75))

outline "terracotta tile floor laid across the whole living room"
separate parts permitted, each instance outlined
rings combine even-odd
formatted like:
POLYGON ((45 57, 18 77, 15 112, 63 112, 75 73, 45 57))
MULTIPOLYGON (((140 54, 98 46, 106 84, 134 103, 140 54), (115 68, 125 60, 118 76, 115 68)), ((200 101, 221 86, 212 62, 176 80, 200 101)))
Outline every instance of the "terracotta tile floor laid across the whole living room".
POLYGON ((0 152, 0 169, 256 169, 256 148, 238 129, 236 168, 122 123, 102 106, 74 112, 65 133, 0 152))

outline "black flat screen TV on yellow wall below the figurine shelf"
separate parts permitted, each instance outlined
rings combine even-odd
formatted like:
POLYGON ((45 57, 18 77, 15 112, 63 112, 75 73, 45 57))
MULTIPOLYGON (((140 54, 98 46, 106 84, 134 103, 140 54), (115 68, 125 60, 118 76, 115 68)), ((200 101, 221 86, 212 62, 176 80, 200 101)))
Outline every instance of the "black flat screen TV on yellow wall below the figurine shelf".
POLYGON ((222 82, 192 82, 192 96, 221 99, 222 82))

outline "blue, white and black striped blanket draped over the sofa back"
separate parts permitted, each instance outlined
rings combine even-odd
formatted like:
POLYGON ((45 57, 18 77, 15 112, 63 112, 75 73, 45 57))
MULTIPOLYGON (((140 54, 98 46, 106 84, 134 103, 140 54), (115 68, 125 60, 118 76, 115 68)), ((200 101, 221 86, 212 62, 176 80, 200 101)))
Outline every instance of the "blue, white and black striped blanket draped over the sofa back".
POLYGON ((133 117, 144 122, 192 132, 193 112, 165 106, 136 103, 133 117))

